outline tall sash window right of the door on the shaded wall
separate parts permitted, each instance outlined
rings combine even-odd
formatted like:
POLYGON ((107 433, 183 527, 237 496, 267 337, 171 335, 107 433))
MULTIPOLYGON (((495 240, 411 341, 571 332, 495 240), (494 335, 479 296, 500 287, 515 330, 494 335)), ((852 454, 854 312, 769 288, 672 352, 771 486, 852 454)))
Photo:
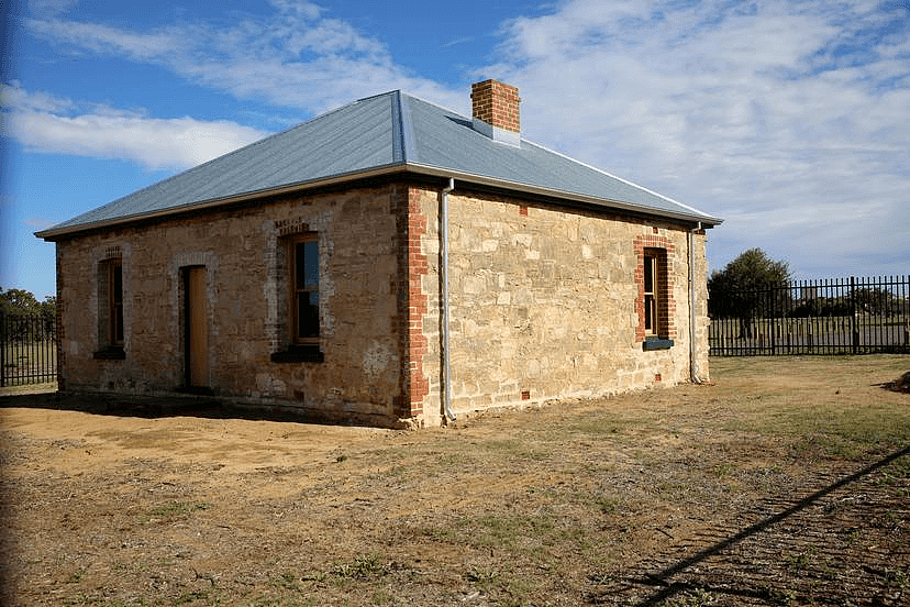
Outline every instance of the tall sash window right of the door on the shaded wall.
POLYGON ((291 240, 293 343, 319 343, 319 241, 315 233, 291 240))

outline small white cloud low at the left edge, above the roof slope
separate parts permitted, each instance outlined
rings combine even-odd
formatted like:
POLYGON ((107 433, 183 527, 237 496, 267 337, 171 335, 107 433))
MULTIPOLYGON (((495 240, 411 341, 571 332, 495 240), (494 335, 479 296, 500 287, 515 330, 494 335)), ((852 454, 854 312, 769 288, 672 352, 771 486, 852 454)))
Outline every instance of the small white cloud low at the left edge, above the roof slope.
POLYGON ((120 158, 149 169, 187 168, 257 141, 267 133, 228 121, 155 119, 18 87, 2 89, 4 132, 26 148, 120 158))

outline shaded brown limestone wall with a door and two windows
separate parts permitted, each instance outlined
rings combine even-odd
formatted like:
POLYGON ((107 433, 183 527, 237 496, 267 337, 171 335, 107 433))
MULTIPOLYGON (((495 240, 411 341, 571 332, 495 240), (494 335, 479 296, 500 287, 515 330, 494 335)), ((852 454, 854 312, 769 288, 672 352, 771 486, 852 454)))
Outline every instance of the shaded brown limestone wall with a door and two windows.
MULTIPOLYGON (((407 397, 408 190, 378 186, 97 232, 57 243, 64 389, 171 394, 185 386, 181 272, 206 268, 208 373, 217 396, 377 423, 407 397), (282 239, 319 233, 322 362, 274 362, 289 343, 282 239), (98 358, 98 265, 122 258, 122 360, 98 358), (404 289, 404 294, 402 294, 404 289)), ((99 311, 100 310, 100 311, 99 311)))

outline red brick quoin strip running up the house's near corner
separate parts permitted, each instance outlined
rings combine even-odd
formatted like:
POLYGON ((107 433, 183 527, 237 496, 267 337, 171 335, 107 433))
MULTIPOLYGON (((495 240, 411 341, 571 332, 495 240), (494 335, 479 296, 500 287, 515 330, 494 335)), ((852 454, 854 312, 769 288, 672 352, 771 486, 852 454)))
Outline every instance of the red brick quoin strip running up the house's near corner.
POLYGON ((411 417, 423 413, 423 399, 430 394, 430 382, 423 373, 423 357, 429 342, 423 333, 423 316, 428 297, 422 279, 429 272, 421 239, 426 233, 426 217, 420 209, 421 190, 408 188, 408 386, 411 417))

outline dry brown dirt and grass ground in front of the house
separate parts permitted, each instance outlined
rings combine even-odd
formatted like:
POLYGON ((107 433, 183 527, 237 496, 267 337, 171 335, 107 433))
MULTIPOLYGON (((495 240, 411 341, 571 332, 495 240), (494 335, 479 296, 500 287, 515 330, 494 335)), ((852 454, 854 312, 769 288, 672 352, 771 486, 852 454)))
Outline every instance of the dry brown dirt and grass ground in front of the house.
POLYGON ((395 431, 0 397, 3 605, 910 605, 910 357, 395 431))

